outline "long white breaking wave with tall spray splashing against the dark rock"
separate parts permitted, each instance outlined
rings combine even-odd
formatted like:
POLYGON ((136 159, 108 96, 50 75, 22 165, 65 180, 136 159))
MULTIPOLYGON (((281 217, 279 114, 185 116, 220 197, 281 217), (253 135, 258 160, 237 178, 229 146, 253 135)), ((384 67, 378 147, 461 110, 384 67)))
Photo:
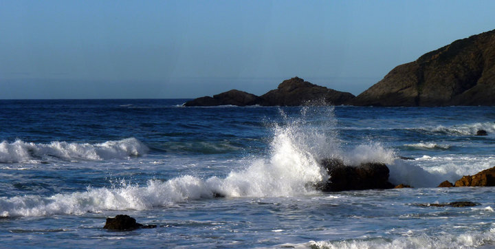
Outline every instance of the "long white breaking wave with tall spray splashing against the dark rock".
MULTIPOLYGON (((102 210, 144 210, 153 206, 173 206, 191 199, 213 197, 295 196, 312 192, 307 185, 325 176, 318 159, 334 148, 335 136, 306 122, 286 118, 274 126, 274 138, 267 158, 250 160, 245 169, 232 171, 225 178, 201 179, 192 175, 165 182, 150 180, 146 186, 121 184, 112 188, 88 188, 85 192, 50 197, 18 196, 0 198, 0 216, 39 216, 100 212, 102 210)), ((331 133, 331 131, 330 131, 331 133)))

